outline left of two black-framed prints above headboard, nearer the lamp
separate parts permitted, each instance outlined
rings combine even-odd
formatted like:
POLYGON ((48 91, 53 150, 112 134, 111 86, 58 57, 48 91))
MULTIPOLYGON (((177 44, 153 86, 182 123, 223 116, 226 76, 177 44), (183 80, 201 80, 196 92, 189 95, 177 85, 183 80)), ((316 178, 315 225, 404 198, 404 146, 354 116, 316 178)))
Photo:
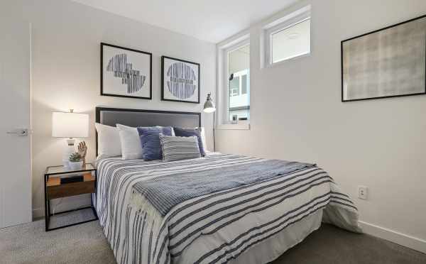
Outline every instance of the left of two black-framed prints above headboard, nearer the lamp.
POLYGON ((151 99, 152 55, 101 43, 101 94, 151 99))

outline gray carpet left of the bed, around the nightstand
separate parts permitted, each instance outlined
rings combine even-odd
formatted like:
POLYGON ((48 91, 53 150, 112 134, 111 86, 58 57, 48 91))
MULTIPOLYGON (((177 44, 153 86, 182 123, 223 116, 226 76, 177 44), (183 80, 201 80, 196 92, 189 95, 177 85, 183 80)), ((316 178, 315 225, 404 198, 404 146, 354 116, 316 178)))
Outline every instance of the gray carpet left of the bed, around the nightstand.
POLYGON ((0 263, 115 263, 99 221, 49 232, 44 224, 0 229, 0 263))

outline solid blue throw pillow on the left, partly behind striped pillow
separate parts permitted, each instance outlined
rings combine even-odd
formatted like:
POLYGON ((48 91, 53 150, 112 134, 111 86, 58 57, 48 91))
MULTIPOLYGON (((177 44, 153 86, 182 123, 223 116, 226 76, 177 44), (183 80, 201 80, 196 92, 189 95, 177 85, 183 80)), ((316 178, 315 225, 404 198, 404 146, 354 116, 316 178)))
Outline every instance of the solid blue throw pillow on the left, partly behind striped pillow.
POLYGON ((139 127, 138 133, 141 138, 143 160, 161 160, 160 133, 164 136, 172 136, 171 126, 139 127))

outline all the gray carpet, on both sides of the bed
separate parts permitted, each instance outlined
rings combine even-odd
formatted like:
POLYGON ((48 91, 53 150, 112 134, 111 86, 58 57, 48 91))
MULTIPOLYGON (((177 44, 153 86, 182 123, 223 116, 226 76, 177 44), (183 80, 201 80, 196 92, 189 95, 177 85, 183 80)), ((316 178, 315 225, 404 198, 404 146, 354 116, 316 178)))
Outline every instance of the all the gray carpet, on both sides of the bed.
MULTIPOLYGON (((44 221, 0 229, 0 263, 115 263, 98 221, 45 232, 44 221)), ((426 263, 426 254, 323 225, 273 264, 426 263)))

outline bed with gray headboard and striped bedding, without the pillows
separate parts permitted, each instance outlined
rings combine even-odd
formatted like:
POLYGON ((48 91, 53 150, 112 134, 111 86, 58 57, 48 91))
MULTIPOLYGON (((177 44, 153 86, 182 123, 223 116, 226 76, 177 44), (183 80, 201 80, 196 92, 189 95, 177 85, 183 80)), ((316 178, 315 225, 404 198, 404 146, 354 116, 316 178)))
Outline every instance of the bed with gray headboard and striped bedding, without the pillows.
MULTIPOLYGON (((201 125, 200 113, 97 107, 115 126, 201 125)), ((361 232, 358 212, 317 165, 208 153, 97 161, 99 221, 117 263, 268 263, 322 222, 361 232)))

